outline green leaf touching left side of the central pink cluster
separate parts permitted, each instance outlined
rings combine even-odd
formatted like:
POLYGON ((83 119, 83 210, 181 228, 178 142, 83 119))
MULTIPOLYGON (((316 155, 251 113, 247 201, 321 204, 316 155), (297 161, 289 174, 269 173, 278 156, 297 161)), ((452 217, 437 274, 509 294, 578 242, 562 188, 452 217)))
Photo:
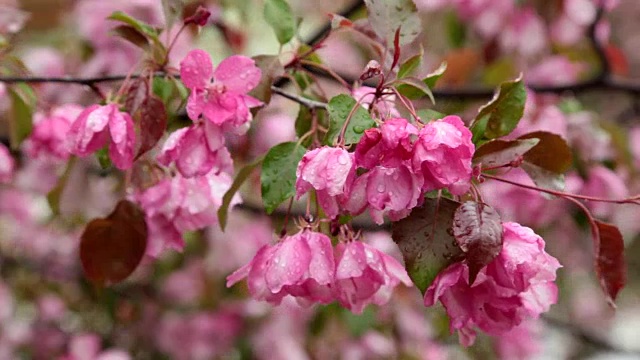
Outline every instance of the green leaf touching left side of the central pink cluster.
POLYGON ((295 142, 272 147, 262 162, 262 203, 271 214, 283 201, 296 194, 296 169, 307 149, 295 142))

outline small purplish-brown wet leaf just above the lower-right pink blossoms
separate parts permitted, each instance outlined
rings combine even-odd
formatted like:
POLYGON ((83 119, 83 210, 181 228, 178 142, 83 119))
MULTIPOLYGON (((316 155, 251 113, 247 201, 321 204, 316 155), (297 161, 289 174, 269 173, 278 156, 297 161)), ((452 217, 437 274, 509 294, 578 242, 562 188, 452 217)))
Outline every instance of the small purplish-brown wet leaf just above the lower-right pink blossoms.
POLYGON ((467 201, 453 216, 453 236, 465 253, 469 285, 502 250, 502 220, 489 205, 467 201))

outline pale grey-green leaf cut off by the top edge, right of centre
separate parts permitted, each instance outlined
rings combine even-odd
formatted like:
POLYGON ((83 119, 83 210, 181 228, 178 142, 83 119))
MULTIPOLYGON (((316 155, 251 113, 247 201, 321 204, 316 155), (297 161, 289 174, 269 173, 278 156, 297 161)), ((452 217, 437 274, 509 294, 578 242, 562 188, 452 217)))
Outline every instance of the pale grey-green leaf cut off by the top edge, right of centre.
POLYGON ((396 31, 400 29, 399 44, 415 40, 422 31, 420 16, 412 0, 365 0, 369 23, 373 30, 391 47, 396 31))

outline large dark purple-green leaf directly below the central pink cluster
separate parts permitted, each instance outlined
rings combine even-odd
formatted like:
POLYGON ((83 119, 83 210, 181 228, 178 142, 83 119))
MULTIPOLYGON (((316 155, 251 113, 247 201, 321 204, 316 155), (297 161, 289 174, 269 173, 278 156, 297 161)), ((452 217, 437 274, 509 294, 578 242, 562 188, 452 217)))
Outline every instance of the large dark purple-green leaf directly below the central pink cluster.
POLYGON ((426 198, 411 214, 392 224, 392 238, 402 252, 405 267, 422 293, 438 273, 463 257, 451 235, 453 216, 460 203, 426 198))

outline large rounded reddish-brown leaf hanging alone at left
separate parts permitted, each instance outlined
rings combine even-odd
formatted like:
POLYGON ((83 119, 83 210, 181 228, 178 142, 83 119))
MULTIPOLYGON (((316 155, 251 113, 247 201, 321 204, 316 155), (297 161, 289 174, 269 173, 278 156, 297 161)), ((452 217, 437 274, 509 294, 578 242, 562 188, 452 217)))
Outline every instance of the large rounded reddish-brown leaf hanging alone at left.
POLYGON ((97 285, 126 279, 138 267, 147 247, 144 213, 121 200, 106 218, 87 224, 80 239, 85 276, 97 285))

